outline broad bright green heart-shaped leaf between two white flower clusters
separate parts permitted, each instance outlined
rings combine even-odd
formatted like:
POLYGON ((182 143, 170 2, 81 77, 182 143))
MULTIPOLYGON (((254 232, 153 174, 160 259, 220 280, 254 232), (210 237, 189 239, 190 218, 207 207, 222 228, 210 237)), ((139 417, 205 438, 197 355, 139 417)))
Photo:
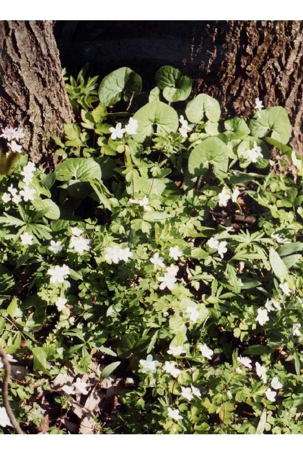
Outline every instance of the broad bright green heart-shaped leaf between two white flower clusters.
POLYGON ((139 143, 154 133, 154 125, 157 125, 157 133, 163 135, 176 132, 179 125, 177 112, 162 101, 151 101, 145 104, 133 118, 138 121, 138 131, 133 138, 139 143))

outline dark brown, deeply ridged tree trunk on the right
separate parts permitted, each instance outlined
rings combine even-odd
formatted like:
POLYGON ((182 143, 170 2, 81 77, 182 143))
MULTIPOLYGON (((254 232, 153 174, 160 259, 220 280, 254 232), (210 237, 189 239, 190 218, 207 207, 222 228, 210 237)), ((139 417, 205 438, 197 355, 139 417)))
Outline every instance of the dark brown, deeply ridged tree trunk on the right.
POLYGON ((302 21, 197 21, 188 47, 195 93, 217 98, 223 115, 248 115, 257 97, 285 107, 291 145, 303 154, 302 21))

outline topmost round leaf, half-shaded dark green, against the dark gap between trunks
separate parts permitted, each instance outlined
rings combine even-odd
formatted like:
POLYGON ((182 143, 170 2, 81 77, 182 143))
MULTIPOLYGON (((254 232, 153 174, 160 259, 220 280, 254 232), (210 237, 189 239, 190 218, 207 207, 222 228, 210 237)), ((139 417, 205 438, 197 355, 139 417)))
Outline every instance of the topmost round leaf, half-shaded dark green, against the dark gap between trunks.
POLYGON ((192 79, 172 66, 162 66, 156 73, 156 82, 169 102, 184 101, 190 95, 192 79))

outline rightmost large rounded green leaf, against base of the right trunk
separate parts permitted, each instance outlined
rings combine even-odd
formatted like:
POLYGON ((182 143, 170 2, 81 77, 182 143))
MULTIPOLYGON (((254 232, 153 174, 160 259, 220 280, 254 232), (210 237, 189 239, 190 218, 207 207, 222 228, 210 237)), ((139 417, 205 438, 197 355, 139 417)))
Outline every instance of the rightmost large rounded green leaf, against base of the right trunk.
POLYGON ((291 135, 291 124, 284 108, 280 106, 264 109, 259 118, 252 118, 249 129, 255 138, 264 138, 270 131, 271 138, 287 144, 291 135))

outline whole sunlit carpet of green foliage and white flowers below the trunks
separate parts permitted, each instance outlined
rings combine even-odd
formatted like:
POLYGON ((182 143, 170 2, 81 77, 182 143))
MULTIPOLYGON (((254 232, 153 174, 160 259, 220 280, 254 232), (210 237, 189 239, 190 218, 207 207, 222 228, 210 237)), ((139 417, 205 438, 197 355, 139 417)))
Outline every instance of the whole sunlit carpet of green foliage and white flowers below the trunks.
POLYGON ((303 166, 287 113, 257 99, 223 121, 179 70, 155 79, 144 93, 129 68, 65 77, 77 121, 53 138, 52 172, 22 154, 22 125, 2 129, 13 413, 25 433, 303 433, 303 166))

